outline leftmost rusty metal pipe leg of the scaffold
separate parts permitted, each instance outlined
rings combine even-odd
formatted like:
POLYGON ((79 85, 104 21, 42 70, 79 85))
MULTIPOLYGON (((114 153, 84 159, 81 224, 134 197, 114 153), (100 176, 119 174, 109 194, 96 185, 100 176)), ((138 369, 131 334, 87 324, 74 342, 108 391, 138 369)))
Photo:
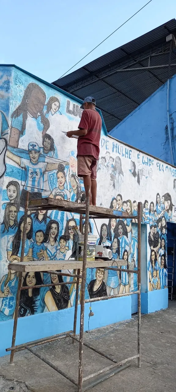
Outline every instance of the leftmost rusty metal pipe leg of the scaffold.
MULTIPOLYGON (((24 221, 23 221, 22 250, 21 250, 21 256, 20 256, 20 262, 23 261, 23 259, 24 259, 28 204, 29 204, 29 192, 27 192, 27 194, 26 194, 25 213, 24 213, 24 221)), ((20 303, 21 286, 22 286, 22 272, 19 272, 18 290, 17 290, 17 294, 16 294, 16 305, 15 305, 15 313, 14 313, 12 347, 15 345, 15 339, 16 339, 16 328, 17 328, 17 321, 18 321, 18 309, 19 309, 19 303, 20 303)), ((14 357, 14 350, 11 351, 10 363, 13 363, 13 357, 14 357)))

